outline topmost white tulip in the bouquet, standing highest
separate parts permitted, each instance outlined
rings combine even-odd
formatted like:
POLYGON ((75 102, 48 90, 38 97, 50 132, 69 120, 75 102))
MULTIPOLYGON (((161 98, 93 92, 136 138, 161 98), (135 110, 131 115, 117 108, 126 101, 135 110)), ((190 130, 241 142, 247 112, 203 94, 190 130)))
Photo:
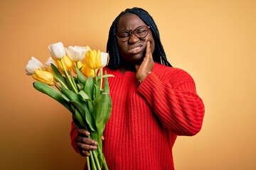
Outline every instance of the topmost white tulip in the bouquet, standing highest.
POLYGON ((48 46, 51 57, 54 60, 60 60, 65 56, 65 48, 63 42, 57 42, 48 46))

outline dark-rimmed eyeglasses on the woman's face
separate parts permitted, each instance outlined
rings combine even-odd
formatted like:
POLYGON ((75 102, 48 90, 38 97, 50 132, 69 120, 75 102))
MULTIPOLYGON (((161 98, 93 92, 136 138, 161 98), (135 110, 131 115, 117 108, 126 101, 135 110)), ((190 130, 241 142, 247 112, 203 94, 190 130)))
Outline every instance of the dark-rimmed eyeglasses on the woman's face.
POLYGON ((118 40, 127 42, 132 34, 136 35, 137 38, 145 38, 149 34, 149 28, 149 26, 139 26, 134 30, 120 30, 116 35, 118 40))

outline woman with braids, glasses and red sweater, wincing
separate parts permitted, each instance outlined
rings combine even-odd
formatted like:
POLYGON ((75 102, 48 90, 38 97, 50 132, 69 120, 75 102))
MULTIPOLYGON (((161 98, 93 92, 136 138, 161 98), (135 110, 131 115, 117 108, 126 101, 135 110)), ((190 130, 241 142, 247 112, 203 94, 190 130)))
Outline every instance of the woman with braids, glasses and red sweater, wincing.
MULTIPOLYGON (((128 8, 112 23, 107 42, 112 115, 103 152, 109 169, 174 169, 177 135, 201 130, 204 106, 192 77, 171 67, 153 18, 128 8)), ((97 142, 72 124, 72 145, 88 156, 97 142)))

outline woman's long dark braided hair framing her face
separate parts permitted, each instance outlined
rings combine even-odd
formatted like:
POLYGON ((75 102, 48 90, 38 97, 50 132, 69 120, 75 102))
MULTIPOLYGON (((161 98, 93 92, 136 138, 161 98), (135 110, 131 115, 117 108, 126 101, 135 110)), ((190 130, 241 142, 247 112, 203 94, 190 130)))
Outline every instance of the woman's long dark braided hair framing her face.
POLYGON ((117 18, 114 19, 112 26, 110 27, 109 37, 107 40, 107 52, 110 54, 110 61, 107 64, 107 67, 110 69, 118 69, 121 63, 121 56, 120 56, 119 47, 117 44, 117 36, 116 36, 117 24, 118 24, 119 18, 121 16, 124 16, 127 13, 136 14, 137 16, 139 16, 139 18, 142 19, 142 21, 144 21, 144 23, 146 23, 147 26, 150 27, 151 33, 155 41, 155 50, 153 53, 153 60, 160 64, 164 64, 166 66, 172 67, 166 58, 164 47, 163 45, 161 45, 159 30, 156 26, 156 23, 154 22, 153 18, 149 15, 147 11, 137 7, 127 8, 125 11, 122 11, 122 13, 120 13, 119 16, 117 16, 117 18))

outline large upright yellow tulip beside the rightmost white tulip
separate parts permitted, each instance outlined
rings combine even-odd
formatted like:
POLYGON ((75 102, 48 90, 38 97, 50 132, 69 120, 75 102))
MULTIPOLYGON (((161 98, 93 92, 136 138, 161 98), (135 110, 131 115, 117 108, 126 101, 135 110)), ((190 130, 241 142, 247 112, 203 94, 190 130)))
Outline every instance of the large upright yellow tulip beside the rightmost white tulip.
POLYGON ((91 69, 99 69, 101 66, 100 50, 89 50, 85 54, 85 63, 91 69))

